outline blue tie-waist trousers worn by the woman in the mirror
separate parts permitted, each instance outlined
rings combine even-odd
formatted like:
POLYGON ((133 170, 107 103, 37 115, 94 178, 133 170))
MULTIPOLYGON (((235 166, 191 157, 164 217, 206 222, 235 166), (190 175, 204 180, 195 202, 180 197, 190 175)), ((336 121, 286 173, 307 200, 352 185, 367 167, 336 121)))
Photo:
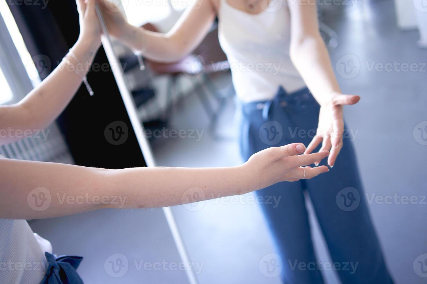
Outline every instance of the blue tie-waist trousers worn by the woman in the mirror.
MULTIPOLYGON (((287 95, 280 88, 273 100, 238 103, 244 160, 272 146, 295 142, 307 146, 316 134, 319 108, 308 89, 287 95)), ((324 283, 322 269, 336 270, 345 284, 393 283, 366 206, 352 137, 348 133, 344 136, 342 150, 329 172, 257 191, 260 200, 280 198, 277 204, 264 202, 261 207, 282 258, 284 283, 324 283), (304 190, 310 195, 328 244, 332 267, 320 264, 314 253, 304 190)))

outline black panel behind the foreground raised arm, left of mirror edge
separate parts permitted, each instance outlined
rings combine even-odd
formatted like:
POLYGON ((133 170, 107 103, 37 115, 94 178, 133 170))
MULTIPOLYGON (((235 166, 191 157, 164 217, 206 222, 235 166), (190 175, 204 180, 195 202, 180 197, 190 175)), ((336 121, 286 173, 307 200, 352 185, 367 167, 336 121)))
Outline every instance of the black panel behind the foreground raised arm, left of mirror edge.
MULTIPOLYGON (((32 3, 18 5, 8 1, 43 80, 77 41, 79 14, 75 0, 49 1, 45 9, 43 5, 35 5, 36 1, 32 3), (44 64, 47 58, 50 64, 44 64)), ((109 66, 102 47, 94 64, 109 66)), ((82 84, 58 118, 61 132, 77 165, 109 169, 146 166, 113 72, 110 67, 107 69, 108 72, 98 68, 88 73, 95 95, 91 97, 82 84), (104 135, 105 128, 114 121, 123 121, 129 131, 129 137, 121 145, 109 143, 104 135)))

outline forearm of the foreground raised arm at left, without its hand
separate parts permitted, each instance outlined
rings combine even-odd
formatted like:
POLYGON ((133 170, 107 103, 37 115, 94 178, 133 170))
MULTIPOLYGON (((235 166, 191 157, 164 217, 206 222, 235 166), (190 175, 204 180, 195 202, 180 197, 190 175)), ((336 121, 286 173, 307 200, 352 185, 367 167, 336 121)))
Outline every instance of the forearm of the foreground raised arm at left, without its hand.
POLYGON ((55 120, 73 98, 88 72, 98 43, 79 40, 72 51, 80 62, 67 56, 59 66, 23 100, 12 106, 0 106, 0 145, 32 135, 55 120), (79 74, 76 74, 77 71, 79 74))

